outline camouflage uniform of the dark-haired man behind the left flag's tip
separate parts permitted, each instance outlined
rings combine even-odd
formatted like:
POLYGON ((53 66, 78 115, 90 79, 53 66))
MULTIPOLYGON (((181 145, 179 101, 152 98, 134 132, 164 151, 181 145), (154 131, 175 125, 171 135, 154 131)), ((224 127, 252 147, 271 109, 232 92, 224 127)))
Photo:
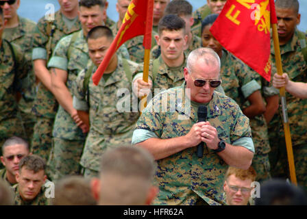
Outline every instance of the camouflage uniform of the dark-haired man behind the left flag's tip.
MULTIPOLYGON (((118 56, 116 70, 107 81, 102 77, 99 85, 95 86, 92 77, 90 77, 88 90, 84 89, 84 77, 87 69, 82 70, 77 77, 73 97, 74 107, 77 110, 89 110, 90 116, 90 131, 80 162, 85 168, 84 175, 86 177, 97 177, 99 159, 106 149, 116 145, 131 144, 132 132, 139 116, 138 101, 132 95, 131 73, 138 64, 127 60, 126 63, 127 66, 124 66, 123 59, 118 56), (127 78, 127 69, 125 69, 127 67, 130 68, 130 78, 127 78), (118 96, 117 92, 120 89, 126 89, 129 93, 125 94, 125 97, 118 96), (132 98, 134 98, 134 102, 132 98), (123 99, 129 101, 130 107, 125 112, 119 112, 117 107, 119 101, 123 101, 123 99), (134 111, 132 110, 133 103, 135 104, 134 111), (87 172, 93 173, 88 174, 87 172)), ((93 69, 93 73, 96 69, 96 67, 93 69)))

